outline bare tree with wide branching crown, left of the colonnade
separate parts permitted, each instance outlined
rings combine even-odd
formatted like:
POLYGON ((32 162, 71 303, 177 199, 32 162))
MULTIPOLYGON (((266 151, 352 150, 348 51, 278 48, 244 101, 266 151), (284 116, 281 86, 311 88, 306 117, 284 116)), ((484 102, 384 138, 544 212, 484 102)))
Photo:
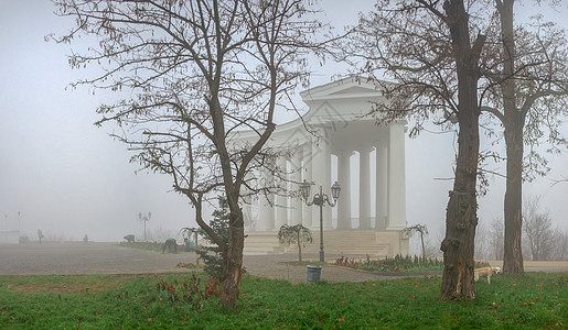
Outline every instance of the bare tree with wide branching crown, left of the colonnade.
MULTIPOLYGON (((272 166, 276 109, 293 108, 290 94, 307 84, 304 57, 321 26, 301 0, 55 0, 57 14, 75 18, 60 42, 90 35, 98 43, 73 53, 73 68, 104 74, 77 81, 95 89, 129 89, 126 99, 97 110, 116 123, 114 136, 142 168, 171 177, 186 196, 199 226, 221 246, 222 305, 234 307, 243 268, 244 221, 239 205, 247 177, 272 166), (237 147, 231 136, 254 130, 257 140, 237 147), (249 176, 247 176, 249 175, 249 176), (203 208, 225 194, 228 240, 205 221, 203 208)), ((269 170, 275 170, 270 168, 269 170)))

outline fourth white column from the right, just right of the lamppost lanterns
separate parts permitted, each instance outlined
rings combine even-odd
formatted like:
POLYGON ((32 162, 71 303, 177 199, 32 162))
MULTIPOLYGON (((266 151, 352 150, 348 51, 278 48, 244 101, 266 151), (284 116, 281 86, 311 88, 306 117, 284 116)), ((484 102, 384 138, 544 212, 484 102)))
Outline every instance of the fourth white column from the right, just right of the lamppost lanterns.
MULTIPOLYGON (((351 229, 351 155, 342 151, 337 154, 337 183, 341 197, 337 200, 337 229, 351 229)), ((328 188, 330 189, 330 188, 328 188)), ((331 198, 331 196, 330 196, 331 198)))

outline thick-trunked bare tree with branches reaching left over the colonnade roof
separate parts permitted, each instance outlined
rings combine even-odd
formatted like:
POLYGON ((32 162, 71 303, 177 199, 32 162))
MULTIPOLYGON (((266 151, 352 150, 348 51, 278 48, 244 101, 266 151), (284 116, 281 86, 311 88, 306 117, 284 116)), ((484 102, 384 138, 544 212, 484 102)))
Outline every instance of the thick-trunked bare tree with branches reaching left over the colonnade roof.
POLYGON ((353 43, 345 50, 347 56, 358 55, 354 65, 363 65, 365 73, 392 79, 381 84, 389 101, 377 105, 383 120, 410 113, 419 125, 438 113, 444 123, 459 124, 456 177, 441 243, 442 300, 475 297, 478 84, 486 36, 474 29, 479 22, 470 13, 474 8, 470 2, 465 7, 462 0, 377 1, 376 10, 361 18, 353 43))

